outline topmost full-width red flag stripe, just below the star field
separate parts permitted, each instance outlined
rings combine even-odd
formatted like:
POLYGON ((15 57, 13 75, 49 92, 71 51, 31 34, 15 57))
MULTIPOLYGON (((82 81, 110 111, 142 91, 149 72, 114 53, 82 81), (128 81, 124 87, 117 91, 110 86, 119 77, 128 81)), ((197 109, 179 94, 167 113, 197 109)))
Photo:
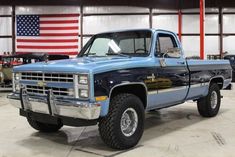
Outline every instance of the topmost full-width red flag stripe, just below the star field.
POLYGON ((68 42, 78 42, 78 39, 51 39, 51 40, 44 40, 44 39, 17 39, 17 42, 29 42, 29 43, 68 43, 68 42))

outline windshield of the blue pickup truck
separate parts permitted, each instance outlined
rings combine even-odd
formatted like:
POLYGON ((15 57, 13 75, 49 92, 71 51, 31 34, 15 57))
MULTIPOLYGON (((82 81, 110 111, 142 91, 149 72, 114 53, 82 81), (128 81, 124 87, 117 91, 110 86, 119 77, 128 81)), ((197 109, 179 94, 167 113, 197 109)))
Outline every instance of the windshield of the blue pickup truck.
POLYGON ((151 43, 151 31, 127 31, 93 36, 79 56, 147 56, 151 43))

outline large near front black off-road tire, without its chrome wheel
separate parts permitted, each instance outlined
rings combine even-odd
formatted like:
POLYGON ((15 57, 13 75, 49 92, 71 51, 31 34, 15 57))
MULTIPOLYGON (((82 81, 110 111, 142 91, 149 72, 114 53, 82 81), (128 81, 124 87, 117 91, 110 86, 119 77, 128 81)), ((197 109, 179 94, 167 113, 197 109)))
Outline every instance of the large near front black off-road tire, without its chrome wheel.
POLYGON ((111 99, 108 115, 99 122, 100 136, 108 146, 114 149, 134 147, 142 137, 144 119, 144 106, 137 96, 128 93, 118 94, 111 99), (130 108, 136 111, 138 123, 135 132, 127 137, 121 130, 121 117, 130 108))

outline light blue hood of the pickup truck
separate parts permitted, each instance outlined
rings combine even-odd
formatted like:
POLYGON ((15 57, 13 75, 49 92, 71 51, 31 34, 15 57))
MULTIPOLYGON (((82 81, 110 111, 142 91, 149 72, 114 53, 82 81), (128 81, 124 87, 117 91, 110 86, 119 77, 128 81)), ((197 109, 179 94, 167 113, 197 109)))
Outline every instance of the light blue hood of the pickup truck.
POLYGON ((14 67, 13 71, 101 73, 118 69, 146 67, 151 64, 151 60, 150 57, 82 57, 21 65, 14 67))

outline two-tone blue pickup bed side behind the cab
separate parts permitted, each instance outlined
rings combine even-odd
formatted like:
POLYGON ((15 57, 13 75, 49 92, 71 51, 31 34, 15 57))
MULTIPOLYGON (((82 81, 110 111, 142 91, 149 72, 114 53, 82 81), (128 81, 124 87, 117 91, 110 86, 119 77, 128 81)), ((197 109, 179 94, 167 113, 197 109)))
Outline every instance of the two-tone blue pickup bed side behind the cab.
POLYGON ((186 100, 207 95, 210 81, 215 77, 221 80, 221 89, 231 82, 231 66, 227 60, 187 60, 187 67, 190 78, 186 100))

